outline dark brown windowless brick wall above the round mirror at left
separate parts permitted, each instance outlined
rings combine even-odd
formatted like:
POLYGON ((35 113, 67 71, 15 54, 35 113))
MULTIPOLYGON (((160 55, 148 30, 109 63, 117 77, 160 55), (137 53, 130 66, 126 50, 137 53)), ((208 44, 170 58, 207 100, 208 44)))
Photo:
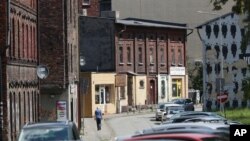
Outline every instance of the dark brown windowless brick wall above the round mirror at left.
POLYGON ((40 64, 47 65, 49 75, 41 84, 64 85, 65 17, 59 0, 39 0, 40 64))

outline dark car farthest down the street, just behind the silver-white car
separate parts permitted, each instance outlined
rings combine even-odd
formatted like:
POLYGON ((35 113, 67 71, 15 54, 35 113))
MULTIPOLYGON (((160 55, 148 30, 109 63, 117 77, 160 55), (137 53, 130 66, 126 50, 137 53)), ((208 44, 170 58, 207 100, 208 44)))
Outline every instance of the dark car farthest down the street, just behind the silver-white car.
POLYGON ((177 98, 173 99, 171 102, 183 105, 185 111, 194 111, 194 103, 189 98, 177 98))

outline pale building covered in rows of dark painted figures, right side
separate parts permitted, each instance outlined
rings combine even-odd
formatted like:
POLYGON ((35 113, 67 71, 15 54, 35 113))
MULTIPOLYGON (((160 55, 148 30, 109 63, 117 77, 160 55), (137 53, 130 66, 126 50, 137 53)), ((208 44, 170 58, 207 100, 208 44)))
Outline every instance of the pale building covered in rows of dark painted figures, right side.
POLYGON ((228 13, 197 27, 203 47, 205 108, 243 107, 242 84, 250 76, 249 47, 241 48, 244 33, 239 15, 228 13), (224 100, 218 99, 224 96, 224 100))

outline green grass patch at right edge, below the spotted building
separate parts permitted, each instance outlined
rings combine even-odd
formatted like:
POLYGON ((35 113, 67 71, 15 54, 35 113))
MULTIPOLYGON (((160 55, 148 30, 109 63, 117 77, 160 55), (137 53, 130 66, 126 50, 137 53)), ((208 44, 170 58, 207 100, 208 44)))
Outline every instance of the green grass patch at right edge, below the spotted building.
POLYGON ((218 112, 220 115, 226 117, 227 119, 239 121, 243 124, 250 125, 250 109, 225 109, 224 113, 218 112))

